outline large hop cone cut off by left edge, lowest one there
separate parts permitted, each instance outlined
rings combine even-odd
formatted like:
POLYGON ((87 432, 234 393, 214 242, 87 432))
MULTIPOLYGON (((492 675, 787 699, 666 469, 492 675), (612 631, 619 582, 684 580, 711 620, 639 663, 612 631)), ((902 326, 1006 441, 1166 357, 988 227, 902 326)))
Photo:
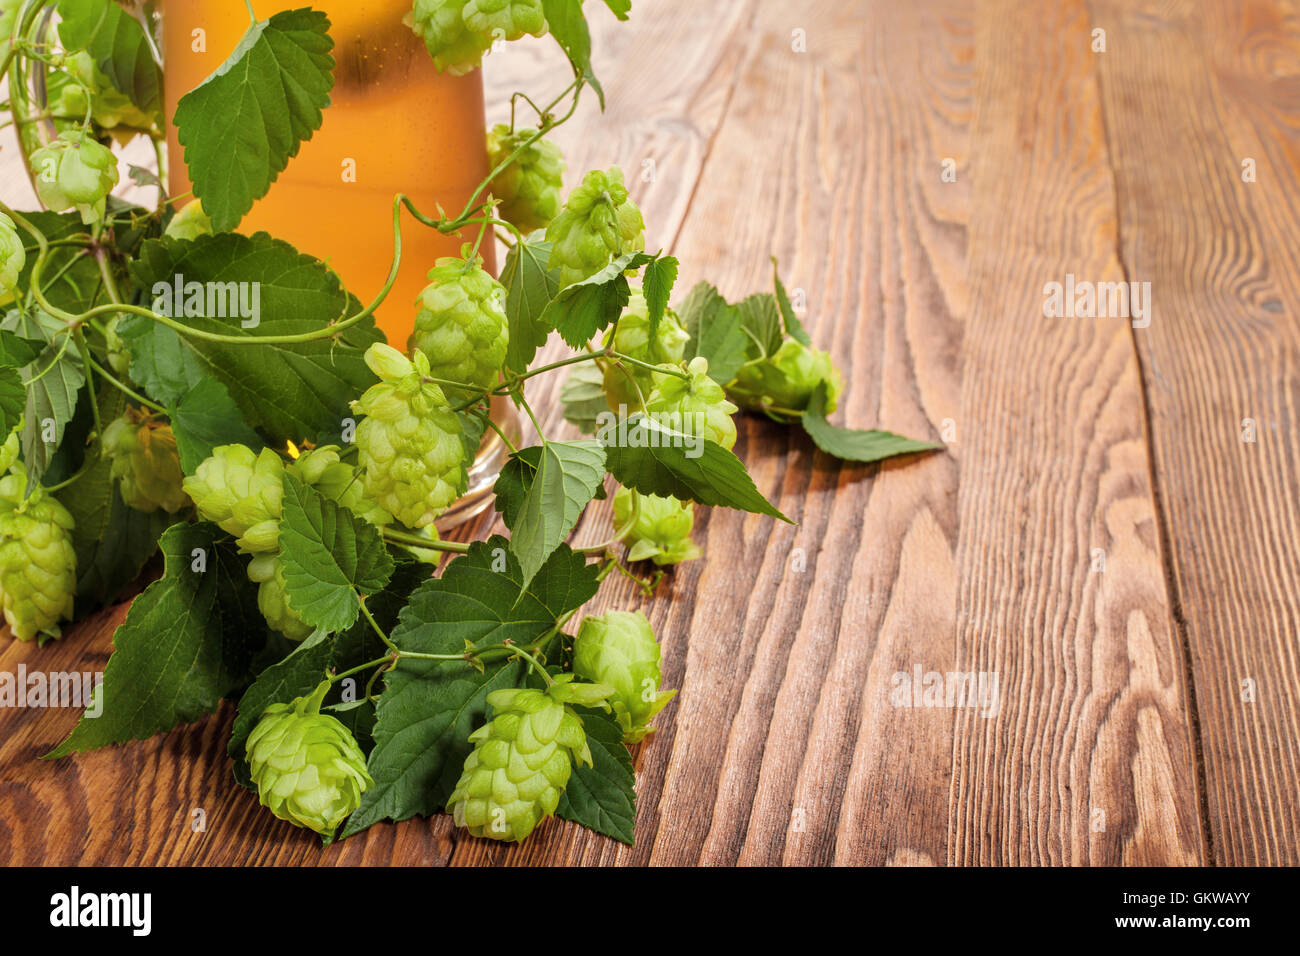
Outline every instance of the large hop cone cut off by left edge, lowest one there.
POLYGON ((0 479, 0 602, 22 641, 57 637, 77 592, 73 516, 39 486, 25 498, 26 486, 23 472, 0 479))

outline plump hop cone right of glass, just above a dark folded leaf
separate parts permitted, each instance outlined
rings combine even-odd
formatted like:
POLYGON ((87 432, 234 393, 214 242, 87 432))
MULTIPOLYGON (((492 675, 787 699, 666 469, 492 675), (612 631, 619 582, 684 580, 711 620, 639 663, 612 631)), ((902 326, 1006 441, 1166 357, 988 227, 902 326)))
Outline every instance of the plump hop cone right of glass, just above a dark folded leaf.
POLYGON ((559 269, 560 287, 594 276, 624 252, 644 250, 645 220, 628 198, 623 170, 593 169, 582 177, 546 228, 546 241, 551 243, 547 267, 559 269))

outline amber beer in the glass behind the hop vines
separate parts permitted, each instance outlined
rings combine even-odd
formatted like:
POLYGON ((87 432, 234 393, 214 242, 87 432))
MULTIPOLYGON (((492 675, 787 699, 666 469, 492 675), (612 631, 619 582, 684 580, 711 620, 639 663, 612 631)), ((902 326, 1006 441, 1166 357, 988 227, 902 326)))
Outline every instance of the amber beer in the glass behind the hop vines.
MULTIPOLYGON (((306 4, 255 0, 260 18, 306 4)), ((488 174, 484 94, 478 70, 439 74, 402 17, 411 0, 313 0, 330 18, 334 90, 320 130, 239 225, 265 229, 325 259, 347 289, 369 302, 393 263, 393 196, 406 193, 426 215, 438 203, 456 215, 488 174)), ((248 29, 240 0, 166 0, 162 4, 166 109, 202 83, 248 29), (199 33, 202 31, 202 33, 199 33)), ((238 148, 231 143, 230 148, 238 148)), ((168 130, 173 195, 190 189, 176 130, 168 130)), ((404 347, 413 302, 439 256, 459 255, 464 238, 439 235, 402 213, 402 269, 377 312, 389 342, 404 347)), ((494 272, 491 242, 482 245, 494 272)))

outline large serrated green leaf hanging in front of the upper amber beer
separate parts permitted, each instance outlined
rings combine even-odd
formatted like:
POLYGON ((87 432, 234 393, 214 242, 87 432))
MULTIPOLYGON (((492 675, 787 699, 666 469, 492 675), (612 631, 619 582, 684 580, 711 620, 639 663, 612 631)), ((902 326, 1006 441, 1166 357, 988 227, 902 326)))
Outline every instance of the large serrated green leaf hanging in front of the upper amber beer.
POLYGON ((218 233, 252 204, 320 129, 334 86, 329 18, 285 10, 248 27, 217 70, 181 98, 177 137, 194 194, 218 233))

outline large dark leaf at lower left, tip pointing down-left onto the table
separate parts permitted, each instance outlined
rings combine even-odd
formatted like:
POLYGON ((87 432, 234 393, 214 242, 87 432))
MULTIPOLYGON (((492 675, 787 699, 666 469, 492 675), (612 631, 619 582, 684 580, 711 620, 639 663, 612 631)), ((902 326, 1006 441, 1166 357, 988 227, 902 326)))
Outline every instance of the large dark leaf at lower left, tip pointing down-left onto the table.
POLYGON ((162 535, 162 578, 135 598, 113 635, 96 700, 103 713, 82 717, 49 757, 198 721, 248 683, 269 635, 244 562, 221 538, 212 524, 176 524, 162 535))

